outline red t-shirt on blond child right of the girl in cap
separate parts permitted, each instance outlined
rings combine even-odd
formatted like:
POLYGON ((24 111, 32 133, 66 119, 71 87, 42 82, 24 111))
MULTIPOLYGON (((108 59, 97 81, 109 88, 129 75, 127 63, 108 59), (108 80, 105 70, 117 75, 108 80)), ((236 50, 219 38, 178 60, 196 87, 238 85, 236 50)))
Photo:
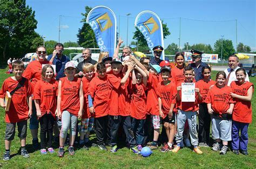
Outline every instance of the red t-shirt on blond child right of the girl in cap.
POLYGON ((89 111, 89 103, 88 103, 88 95, 90 95, 88 88, 89 88, 90 81, 87 78, 83 77, 82 82, 83 82, 83 91, 84 91, 84 113, 82 118, 91 118, 92 115, 89 111))

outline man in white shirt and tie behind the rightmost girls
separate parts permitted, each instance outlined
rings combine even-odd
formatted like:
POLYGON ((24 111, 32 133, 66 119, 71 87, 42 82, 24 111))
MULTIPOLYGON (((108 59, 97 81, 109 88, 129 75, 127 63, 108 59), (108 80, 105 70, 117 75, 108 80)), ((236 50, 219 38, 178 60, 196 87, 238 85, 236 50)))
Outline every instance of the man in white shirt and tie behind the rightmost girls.
MULTIPOLYGON (((230 86, 232 81, 237 81, 237 76, 235 75, 235 71, 237 71, 237 69, 240 68, 238 64, 239 64, 239 58, 237 57, 237 55, 230 55, 230 57, 228 57, 228 66, 230 68, 227 68, 224 71, 227 76, 227 79, 226 79, 227 86, 230 86)), ((245 81, 250 81, 247 73, 246 73, 245 81)))

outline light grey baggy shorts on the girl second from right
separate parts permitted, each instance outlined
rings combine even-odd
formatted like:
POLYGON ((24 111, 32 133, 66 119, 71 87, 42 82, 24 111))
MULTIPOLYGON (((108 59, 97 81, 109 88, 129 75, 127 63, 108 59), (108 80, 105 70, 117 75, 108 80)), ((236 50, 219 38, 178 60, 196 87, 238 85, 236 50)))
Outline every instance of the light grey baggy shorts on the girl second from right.
POLYGON ((212 138, 231 141, 232 120, 212 118, 212 138))

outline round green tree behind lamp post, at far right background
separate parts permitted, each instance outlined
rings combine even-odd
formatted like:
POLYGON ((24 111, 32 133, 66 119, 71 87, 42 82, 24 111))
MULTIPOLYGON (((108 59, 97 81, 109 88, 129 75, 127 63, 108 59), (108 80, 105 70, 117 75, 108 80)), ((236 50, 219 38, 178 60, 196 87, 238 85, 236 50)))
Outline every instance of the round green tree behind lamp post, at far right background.
POLYGON ((223 43, 223 59, 227 59, 230 55, 232 55, 235 52, 232 40, 219 39, 219 40, 215 41, 214 53, 219 54, 219 58, 221 57, 222 43, 223 43))

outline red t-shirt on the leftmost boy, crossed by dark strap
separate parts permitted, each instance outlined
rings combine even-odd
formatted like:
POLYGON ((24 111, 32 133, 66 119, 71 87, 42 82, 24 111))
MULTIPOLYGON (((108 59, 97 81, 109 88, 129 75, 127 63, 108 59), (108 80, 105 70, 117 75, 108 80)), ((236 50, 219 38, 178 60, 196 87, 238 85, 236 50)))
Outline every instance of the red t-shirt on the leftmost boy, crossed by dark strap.
MULTIPOLYGON (((19 81, 21 81, 20 79, 19 81)), ((0 97, 4 98, 6 91, 11 93, 18 86, 18 82, 11 77, 7 78, 3 82, 2 89, 0 90, 0 97)), ((26 80, 23 87, 19 88, 11 96, 11 104, 9 111, 5 111, 5 122, 16 123, 28 119, 29 105, 27 97, 32 95, 32 87, 29 80, 26 80)))

